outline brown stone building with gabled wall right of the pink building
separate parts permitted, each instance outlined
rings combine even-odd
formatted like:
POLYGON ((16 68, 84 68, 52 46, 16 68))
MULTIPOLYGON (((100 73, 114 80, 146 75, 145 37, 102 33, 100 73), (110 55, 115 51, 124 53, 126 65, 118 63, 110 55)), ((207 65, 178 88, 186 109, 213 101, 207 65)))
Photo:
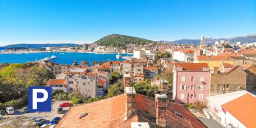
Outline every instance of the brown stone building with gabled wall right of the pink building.
POLYGON ((210 75, 210 96, 245 90, 247 74, 238 66, 219 72, 215 67, 210 75))

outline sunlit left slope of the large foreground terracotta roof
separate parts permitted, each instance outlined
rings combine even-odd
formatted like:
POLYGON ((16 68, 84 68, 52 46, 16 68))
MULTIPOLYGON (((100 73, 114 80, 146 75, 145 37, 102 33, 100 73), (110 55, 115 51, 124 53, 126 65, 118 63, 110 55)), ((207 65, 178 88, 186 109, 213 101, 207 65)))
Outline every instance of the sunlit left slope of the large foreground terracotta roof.
POLYGON ((131 122, 138 122, 134 116, 124 120, 125 95, 99 100, 92 103, 73 106, 56 125, 57 127, 131 127, 131 122), (86 117, 79 116, 88 113, 86 117))

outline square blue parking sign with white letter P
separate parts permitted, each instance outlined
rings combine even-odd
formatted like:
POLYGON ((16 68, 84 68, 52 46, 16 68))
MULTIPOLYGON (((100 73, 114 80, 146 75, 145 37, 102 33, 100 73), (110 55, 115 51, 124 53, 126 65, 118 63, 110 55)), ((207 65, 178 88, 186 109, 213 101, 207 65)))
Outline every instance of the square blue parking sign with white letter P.
POLYGON ((29 112, 51 112, 51 95, 51 87, 29 87, 29 112))

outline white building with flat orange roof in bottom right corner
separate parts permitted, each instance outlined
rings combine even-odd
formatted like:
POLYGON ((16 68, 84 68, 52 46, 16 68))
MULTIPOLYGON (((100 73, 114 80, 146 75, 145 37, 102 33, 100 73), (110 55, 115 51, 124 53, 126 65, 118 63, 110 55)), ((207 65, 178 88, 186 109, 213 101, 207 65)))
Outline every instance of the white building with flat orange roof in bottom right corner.
POLYGON ((247 91, 237 91, 206 97, 211 110, 205 110, 205 115, 229 127, 255 127, 256 96, 247 91))

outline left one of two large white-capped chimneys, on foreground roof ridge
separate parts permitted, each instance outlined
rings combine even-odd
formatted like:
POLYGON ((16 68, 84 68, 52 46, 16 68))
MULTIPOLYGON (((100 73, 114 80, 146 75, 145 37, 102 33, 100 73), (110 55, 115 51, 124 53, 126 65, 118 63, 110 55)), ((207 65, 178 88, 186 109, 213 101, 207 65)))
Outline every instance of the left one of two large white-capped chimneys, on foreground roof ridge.
POLYGON ((126 96, 126 109, 124 120, 135 116, 135 94, 136 91, 134 87, 125 87, 125 96, 126 96))

